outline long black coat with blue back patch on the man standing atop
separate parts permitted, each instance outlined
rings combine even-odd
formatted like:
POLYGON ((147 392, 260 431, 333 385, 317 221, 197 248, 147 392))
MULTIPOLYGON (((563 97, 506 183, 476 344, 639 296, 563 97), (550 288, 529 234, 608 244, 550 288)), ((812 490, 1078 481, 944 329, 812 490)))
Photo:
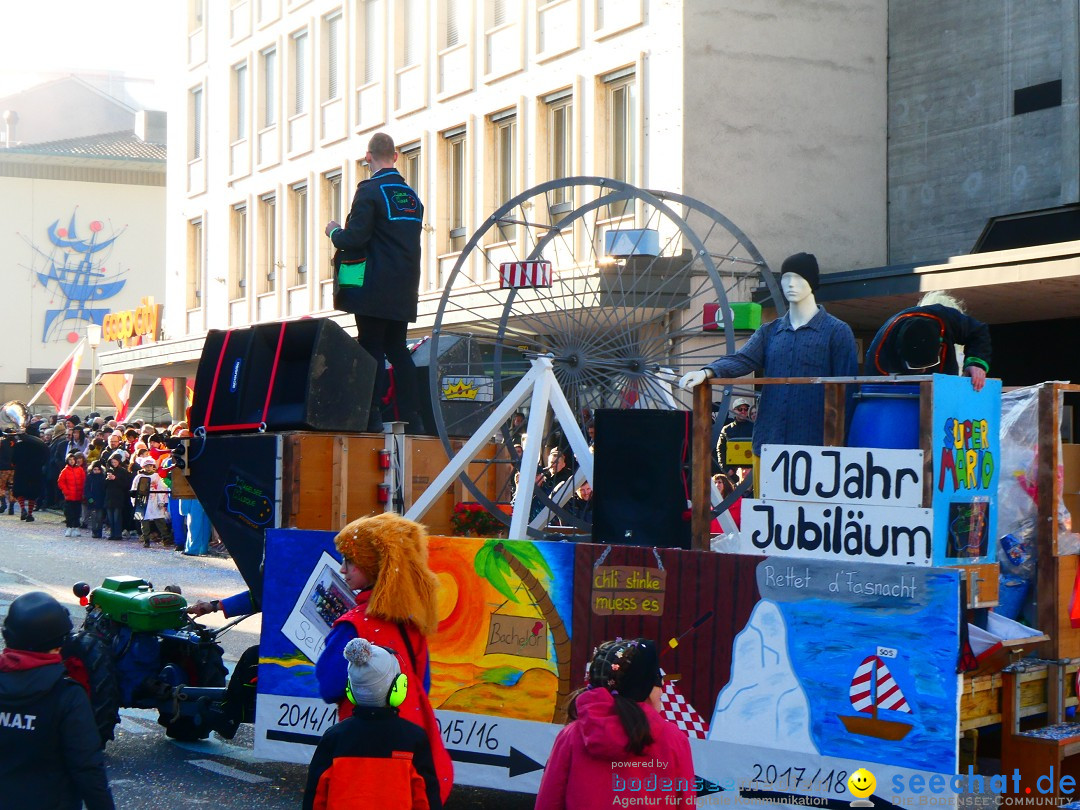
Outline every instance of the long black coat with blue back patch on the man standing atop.
POLYGON ((367 260, 363 286, 339 287, 342 312, 388 321, 415 321, 420 291, 423 204, 396 168, 383 168, 356 186, 343 228, 330 234, 335 264, 367 260))

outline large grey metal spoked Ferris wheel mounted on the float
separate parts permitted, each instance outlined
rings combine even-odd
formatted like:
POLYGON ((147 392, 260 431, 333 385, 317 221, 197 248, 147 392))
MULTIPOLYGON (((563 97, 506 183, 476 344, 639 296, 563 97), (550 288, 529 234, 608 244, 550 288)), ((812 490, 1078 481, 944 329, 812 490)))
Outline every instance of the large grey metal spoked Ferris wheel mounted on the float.
MULTIPOLYGON (((432 335, 432 354, 440 360, 429 372, 440 437, 449 446, 449 431, 474 431, 527 373, 531 351, 555 357, 555 379, 579 422, 599 407, 684 407, 675 397, 672 375, 660 369, 703 365, 726 353, 730 325, 725 332, 704 332, 700 302, 726 308, 729 295, 745 300, 746 285, 755 278, 775 289, 753 244, 729 220, 690 198, 595 177, 541 184, 515 195, 467 242, 440 301, 432 335), (625 232, 631 229, 639 232, 625 232), (606 233, 619 230, 625 247, 615 252, 626 256, 608 264, 602 254, 605 240, 613 238, 606 233), (661 244, 649 251, 657 255, 645 256, 642 247, 652 239, 650 231, 660 234, 661 244), (501 264, 523 260, 522 255, 551 262, 551 287, 497 286, 501 264), (741 270, 743 262, 748 270, 741 270), (455 335, 468 342, 449 342, 455 335), (441 346, 447 347, 445 354, 441 346), (443 397, 441 381, 455 375, 491 378, 491 402, 443 397)), ((478 390, 484 384, 476 382, 478 390)), ((551 419, 545 415, 545 421, 551 419)), ((507 426, 497 432, 509 438, 507 426)), ((501 445, 494 459, 471 468, 462 484, 494 510, 513 480, 498 464, 514 459, 521 464, 514 448, 501 445), (495 483, 492 472, 499 476, 495 483)), ((565 521, 576 519, 550 496, 558 494, 538 491, 536 497, 565 521)))

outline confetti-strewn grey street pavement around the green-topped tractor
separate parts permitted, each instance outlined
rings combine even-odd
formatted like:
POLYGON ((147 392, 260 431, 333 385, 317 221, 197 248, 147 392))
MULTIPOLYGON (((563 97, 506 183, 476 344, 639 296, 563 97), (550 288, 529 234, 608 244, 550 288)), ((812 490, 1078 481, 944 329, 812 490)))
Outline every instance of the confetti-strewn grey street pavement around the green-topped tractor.
MULTIPOLYGON (((106 577, 141 577, 161 590, 180 586, 189 602, 228 596, 245 589, 243 578, 225 556, 193 557, 171 549, 144 549, 141 540, 97 540, 84 531, 81 538, 64 537, 64 521, 56 512, 39 512, 33 523, 18 514, 0 515, 0 618, 16 596, 28 591, 51 593, 71 609, 78 626, 84 609, 71 585, 91 586, 106 577)), ((220 613, 204 617, 207 625, 225 622, 220 613)), ((258 642, 259 617, 244 620, 225 633, 226 664, 258 642)), ((221 810, 248 808, 298 808, 303 796, 307 768, 257 759, 253 753, 252 727, 243 726, 235 739, 216 734, 197 743, 170 740, 158 726, 157 712, 124 708, 117 739, 106 750, 109 782, 118 808, 214 807, 221 810)), ((500 791, 456 787, 448 810, 525 810, 534 797, 500 791)))

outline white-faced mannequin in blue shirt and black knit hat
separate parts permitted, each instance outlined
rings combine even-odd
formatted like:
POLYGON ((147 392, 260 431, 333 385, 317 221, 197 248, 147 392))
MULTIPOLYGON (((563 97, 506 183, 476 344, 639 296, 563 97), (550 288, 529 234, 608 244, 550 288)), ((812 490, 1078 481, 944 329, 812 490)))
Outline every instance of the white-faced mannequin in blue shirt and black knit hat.
MULTIPOLYGON (((851 327, 828 314, 814 297, 820 281, 813 254, 797 253, 781 266, 780 288, 787 314, 755 332, 734 354, 690 372, 679 387, 690 390, 713 377, 852 377, 859 372, 851 327)), ((820 386, 766 386, 754 427, 754 454, 764 444, 821 445, 824 391, 820 386)))

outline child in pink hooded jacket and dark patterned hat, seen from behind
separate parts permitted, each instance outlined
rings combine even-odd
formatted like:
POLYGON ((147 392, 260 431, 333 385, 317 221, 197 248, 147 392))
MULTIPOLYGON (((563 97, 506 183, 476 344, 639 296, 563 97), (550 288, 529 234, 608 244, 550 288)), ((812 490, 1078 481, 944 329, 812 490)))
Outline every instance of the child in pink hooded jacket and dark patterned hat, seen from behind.
POLYGON ((660 660, 646 638, 605 642, 544 766, 536 810, 693 807, 686 732, 660 716, 660 660))

